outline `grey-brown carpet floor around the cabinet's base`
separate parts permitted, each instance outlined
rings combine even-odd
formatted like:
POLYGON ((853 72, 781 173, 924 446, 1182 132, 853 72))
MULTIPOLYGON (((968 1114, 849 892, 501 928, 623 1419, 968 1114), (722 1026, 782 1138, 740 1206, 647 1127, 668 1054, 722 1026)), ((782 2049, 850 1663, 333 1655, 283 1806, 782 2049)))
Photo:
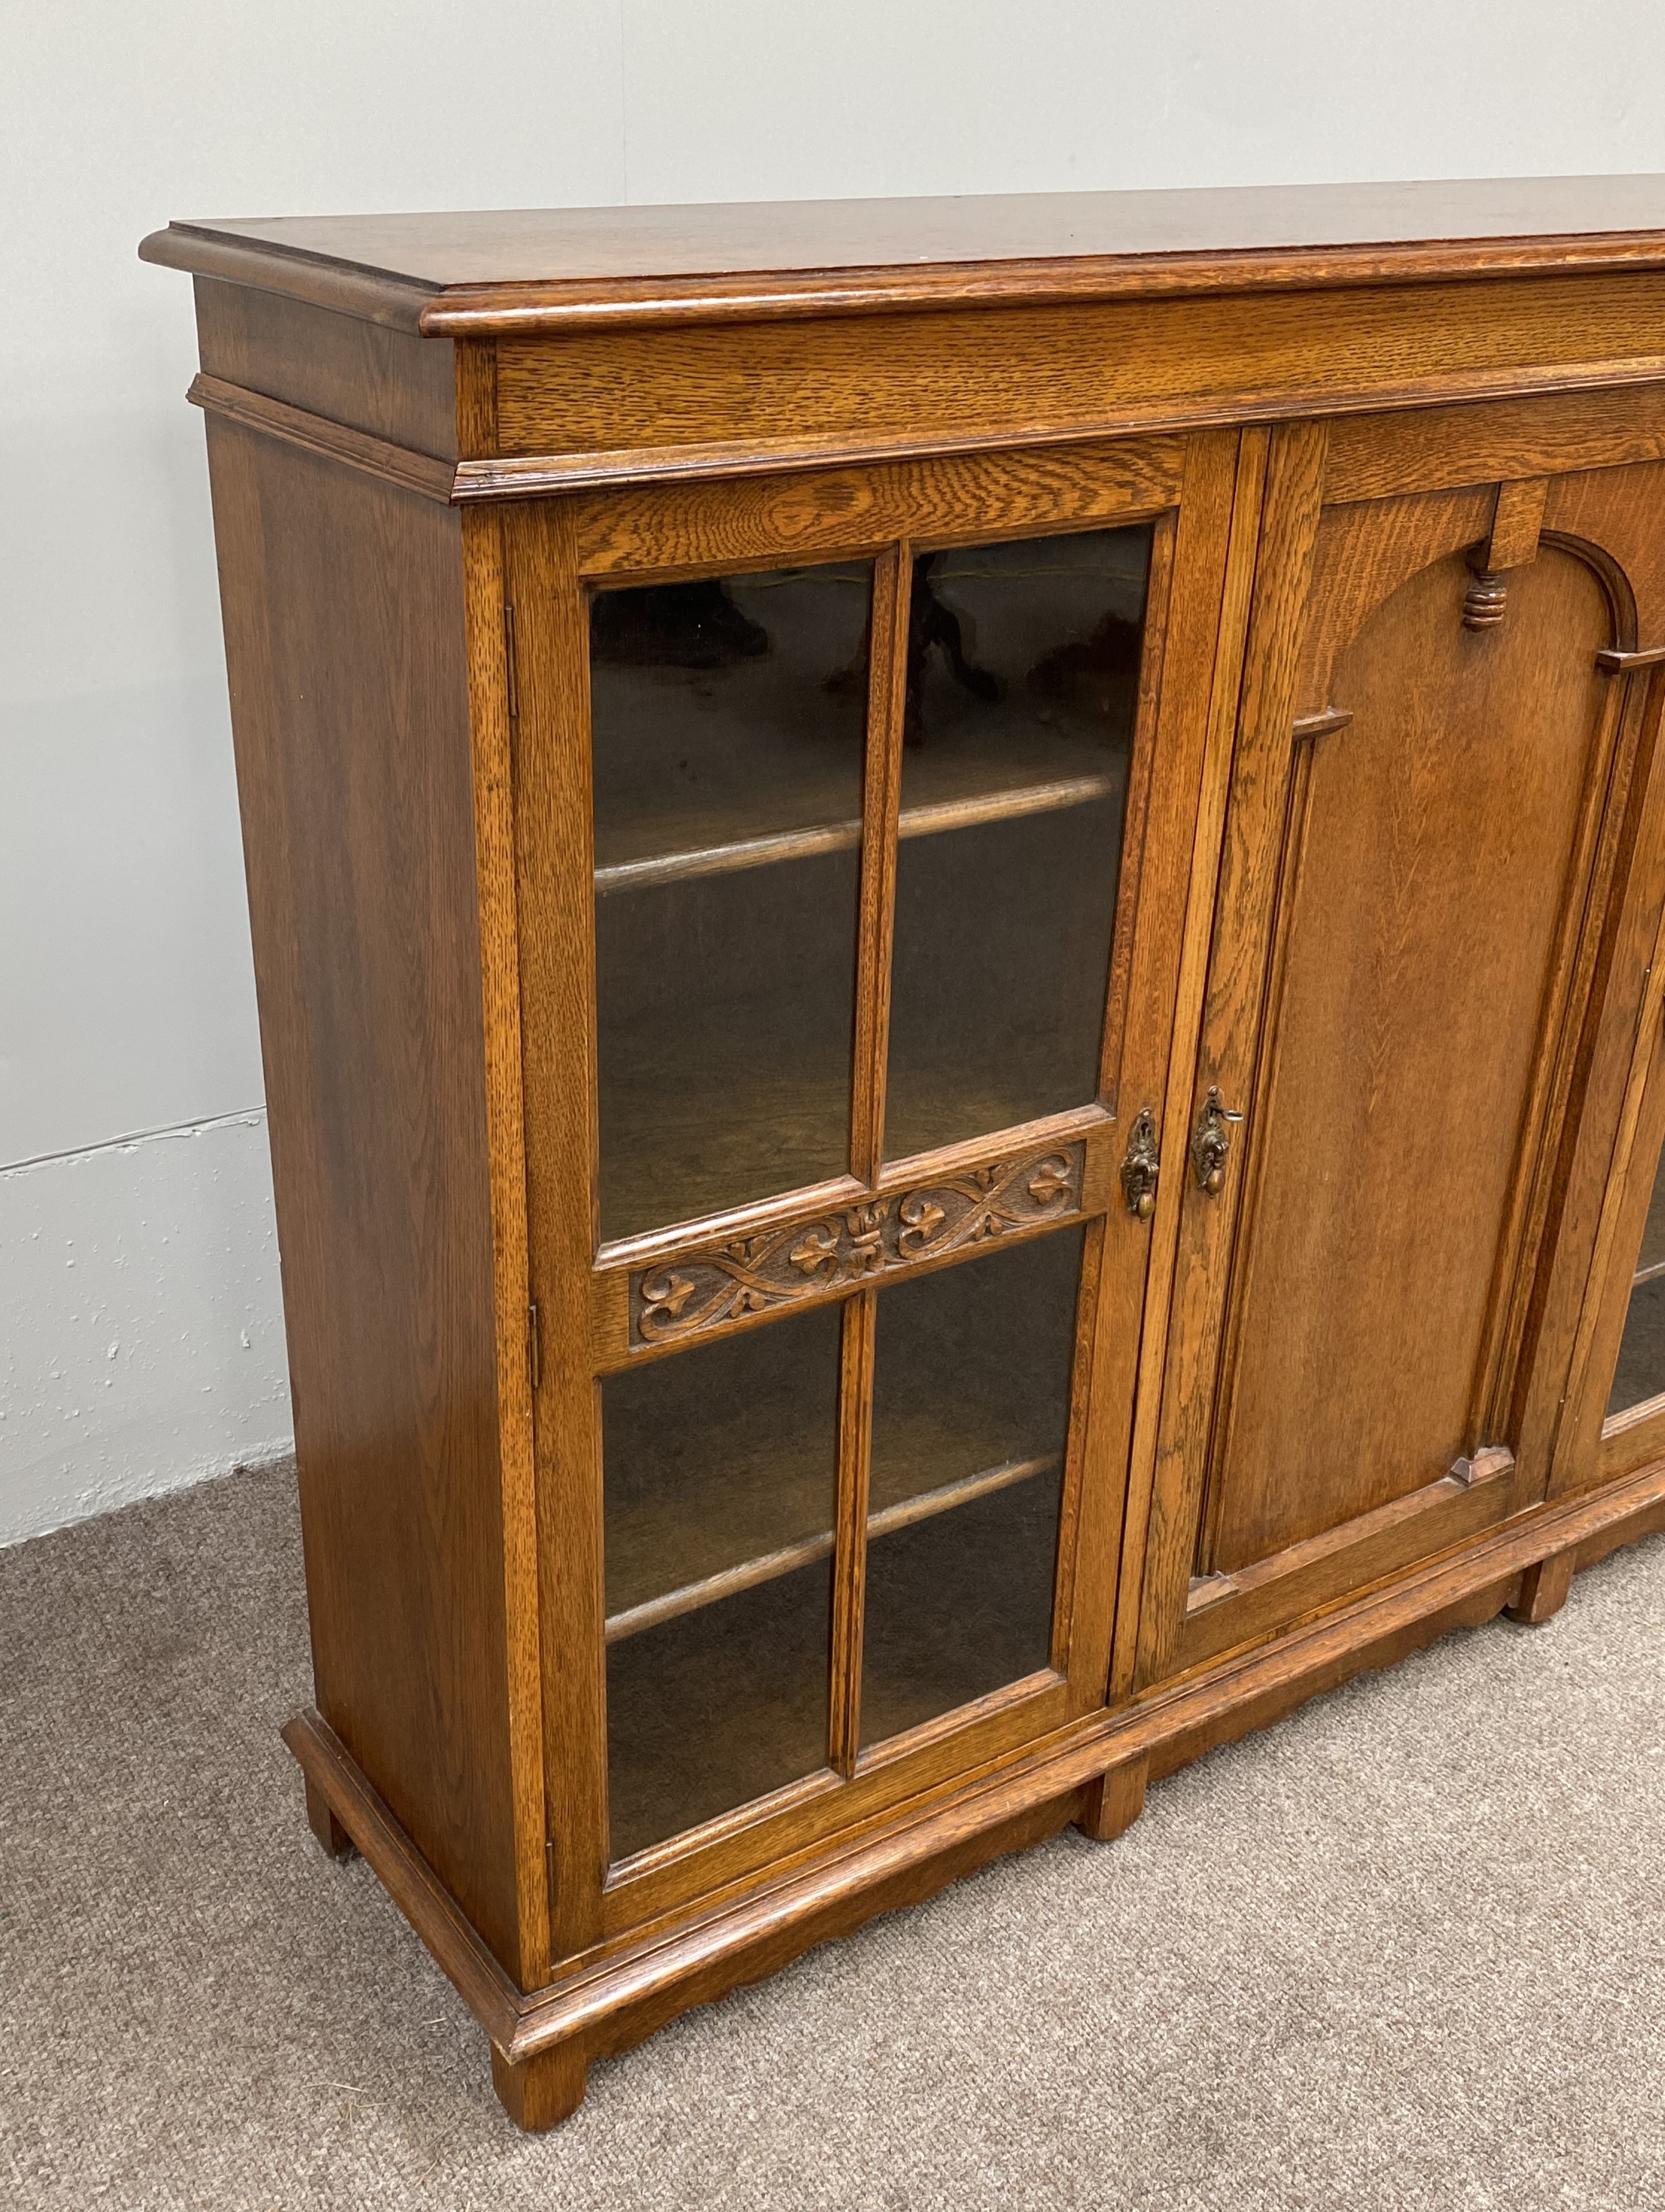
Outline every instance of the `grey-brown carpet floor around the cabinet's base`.
POLYGON ((690 2013, 542 2139, 301 1816, 294 1486, 0 1553, 0 2201, 1665 2205, 1665 1540, 690 2013))

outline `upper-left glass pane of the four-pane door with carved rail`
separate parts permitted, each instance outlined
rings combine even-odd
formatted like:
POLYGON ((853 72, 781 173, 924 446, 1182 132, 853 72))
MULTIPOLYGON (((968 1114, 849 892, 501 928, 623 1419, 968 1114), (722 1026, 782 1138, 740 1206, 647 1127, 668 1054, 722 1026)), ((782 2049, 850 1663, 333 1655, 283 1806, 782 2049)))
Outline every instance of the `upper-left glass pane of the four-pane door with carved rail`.
POLYGON ((601 1234, 842 1175, 871 564, 590 604, 601 1234))

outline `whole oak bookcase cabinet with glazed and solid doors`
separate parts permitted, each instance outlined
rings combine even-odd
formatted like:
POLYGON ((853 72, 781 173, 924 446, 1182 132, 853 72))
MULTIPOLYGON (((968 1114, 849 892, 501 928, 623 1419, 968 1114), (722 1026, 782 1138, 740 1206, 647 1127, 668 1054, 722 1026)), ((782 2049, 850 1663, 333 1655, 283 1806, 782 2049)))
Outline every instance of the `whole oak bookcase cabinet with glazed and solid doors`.
POLYGON ((1661 223, 146 241, 197 276, 287 1741, 522 2124, 1665 1524, 1661 223))

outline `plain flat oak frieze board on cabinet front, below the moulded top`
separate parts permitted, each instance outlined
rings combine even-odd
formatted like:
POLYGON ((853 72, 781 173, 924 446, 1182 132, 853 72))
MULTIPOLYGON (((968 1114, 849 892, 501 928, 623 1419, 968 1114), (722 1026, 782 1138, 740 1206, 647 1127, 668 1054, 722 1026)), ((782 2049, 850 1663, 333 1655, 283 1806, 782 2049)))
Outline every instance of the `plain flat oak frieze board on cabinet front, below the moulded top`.
POLYGON ((542 467, 683 445, 763 467, 1661 374, 1665 274, 1543 276, 504 338, 498 429, 542 467))

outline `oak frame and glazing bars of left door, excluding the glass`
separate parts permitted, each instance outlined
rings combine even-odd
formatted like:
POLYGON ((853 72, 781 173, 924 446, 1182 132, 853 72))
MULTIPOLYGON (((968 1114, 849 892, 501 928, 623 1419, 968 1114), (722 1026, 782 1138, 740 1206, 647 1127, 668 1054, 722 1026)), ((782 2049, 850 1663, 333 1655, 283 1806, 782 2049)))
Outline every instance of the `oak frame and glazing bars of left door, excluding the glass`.
POLYGON ((1121 1166, 1139 1115, 1152 1126, 1163 1119, 1201 765, 1210 730, 1218 741, 1218 717, 1229 714, 1236 692, 1263 458, 1265 434, 1240 440, 1236 431, 1203 431, 805 478, 643 487, 502 513, 531 1283, 542 1347, 535 1460, 557 1958, 582 1955, 878 1820, 1103 1703, 1150 1241, 1148 1221, 1125 1201, 1121 1166), (1152 555, 1097 1099, 935 1152, 884 1159, 909 557, 929 546, 1121 524, 1150 524, 1152 555), (876 580, 849 1172, 601 1243, 588 595, 838 560, 871 560, 876 580), (1002 1248, 1041 1237, 1059 1219, 1083 1230, 1050 1666, 862 1752, 854 1681, 873 1307, 893 1276, 988 1265, 955 1223, 991 1206, 1002 1248), (946 1219, 938 1225, 938 1217, 946 1219), (940 1243, 898 1234, 909 1221, 929 1223, 940 1243), (827 1270, 794 1281, 781 1254, 807 1237, 825 1237, 834 1256, 827 1270), (745 1256, 741 1296, 732 1294, 736 1252, 745 1256), (681 1292, 683 1283, 690 1292, 681 1292), (657 1358, 697 1358, 699 1349, 685 1349, 690 1334, 723 1343, 776 1327, 783 1310, 831 1301, 842 1305, 842 1380, 827 1765, 610 1865, 604 1378, 657 1358), (657 1323, 659 1336, 643 1323, 657 1323))

